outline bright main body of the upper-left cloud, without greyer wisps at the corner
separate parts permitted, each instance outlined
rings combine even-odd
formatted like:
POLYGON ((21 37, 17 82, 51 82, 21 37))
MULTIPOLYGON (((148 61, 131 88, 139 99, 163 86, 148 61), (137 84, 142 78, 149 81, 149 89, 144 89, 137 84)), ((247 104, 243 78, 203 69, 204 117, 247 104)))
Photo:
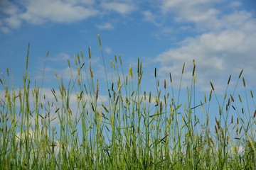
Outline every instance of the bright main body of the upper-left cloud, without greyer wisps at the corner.
POLYGON ((98 13, 90 6, 83 6, 72 1, 26 1, 25 6, 27 10, 21 14, 21 18, 34 24, 46 21, 70 23, 95 16, 98 13))

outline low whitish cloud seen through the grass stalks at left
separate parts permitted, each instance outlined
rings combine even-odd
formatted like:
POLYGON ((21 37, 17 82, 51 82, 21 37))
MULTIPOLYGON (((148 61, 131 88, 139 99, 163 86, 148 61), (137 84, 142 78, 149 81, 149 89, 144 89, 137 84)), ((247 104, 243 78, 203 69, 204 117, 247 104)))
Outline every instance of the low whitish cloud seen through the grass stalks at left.
MULTIPOLYGON (((66 92, 68 93, 68 86, 65 86, 65 88, 66 88, 66 92)), ((35 105, 36 98, 35 98, 35 96, 32 95, 33 94, 31 92, 32 90, 33 89, 30 89, 30 91, 29 91, 28 104, 29 104, 29 108, 31 109, 31 111, 34 111, 34 109, 36 108, 36 105, 35 105)), ((89 89, 87 89, 87 90, 89 90, 89 89)), ((14 89, 14 93, 15 93, 15 96, 18 96, 18 89, 14 89)), ((69 93, 70 93, 69 94, 69 108, 72 111, 72 113, 74 113, 73 118, 75 118, 77 111, 78 111, 78 116, 80 115, 79 108, 81 109, 82 106, 81 105, 78 106, 78 103, 80 101, 78 101, 76 91, 73 89, 73 91, 70 91, 69 93)), ((78 91, 78 93, 80 94, 79 91, 78 91)), ((11 93, 10 95, 11 95, 10 97, 12 98, 13 94, 11 93)), ((62 104, 65 105, 65 100, 66 100, 66 96, 65 96, 65 99, 60 98, 59 89, 55 89, 55 96, 58 99, 58 101, 55 101, 55 97, 53 96, 53 92, 51 91, 51 89, 43 88, 43 89, 40 89, 40 91, 39 91, 38 105, 39 105, 39 113, 42 116, 45 116, 45 113, 48 113, 48 111, 45 111, 45 109, 44 109, 44 107, 48 108, 48 101, 50 103, 50 106, 52 106, 52 103, 53 103, 53 108, 50 108, 49 116, 50 116, 50 119, 53 119, 55 117, 57 117, 57 118, 55 118, 55 120, 51 121, 50 125, 58 125, 58 120, 59 120, 58 113, 55 113, 55 111, 57 108, 60 108, 60 112, 61 112, 62 104), (41 98, 40 98, 40 95, 42 95, 41 98), (46 97, 46 99, 44 99, 44 96, 46 97), (40 103, 42 103, 43 108, 41 108, 40 103)), ((0 90, 0 98, 6 103, 7 98, 5 98, 5 91, 0 90)), ((21 98, 23 98, 23 90, 21 90, 21 98)), ((83 94, 83 98, 85 99, 85 101, 87 101, 87 105, 85 106, 85 108, 89 109, 92 98, 90 98, 90 96, 87 96, 85 93, 83 94)), ((100 111, 100 109, 101 109, 100 108, 101 104, 107 103, 107 101, 108 101, 108 96, 99 94, 98 100, 97 100, 97 107, 99 109, 98 111, 100 111)), ((5 105, 2 101, 1 101, 1 104, 5 105)), ((19 101, 19 98, 16 98, 15 106, 16 106, 17 118, 20 118, 20 116, 18 115, 20 105, 21 105, 21 103, 19 101)), ((5 105, 5 107, 6 107, 6 105, 5 105)), ((33 113, 33 116, 29 120, 32 126, 35 125, 35 117, 34 116, 35 115, 33 113)), ((41 119, 41 117, 39 117, 39 118, 41 119)), ((39 120, 39 122, 41 123, 41 120, 39 120)))

